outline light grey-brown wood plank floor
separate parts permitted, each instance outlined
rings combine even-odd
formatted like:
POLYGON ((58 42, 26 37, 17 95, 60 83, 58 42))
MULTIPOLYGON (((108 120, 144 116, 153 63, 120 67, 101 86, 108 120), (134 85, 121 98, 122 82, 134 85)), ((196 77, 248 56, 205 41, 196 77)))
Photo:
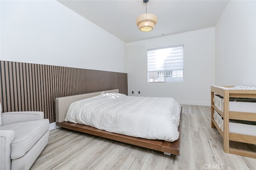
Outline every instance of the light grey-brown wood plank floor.
MULTIPOLYGON (((70 131, 50 131, 49 143, 32 170, 254 170, 256 159, 223 151, 210 123, 210 107, 182 105, 180 156, 166 156, 123 143, 70 131)), ((255 145, 230 144, 256 152, 255 145)))

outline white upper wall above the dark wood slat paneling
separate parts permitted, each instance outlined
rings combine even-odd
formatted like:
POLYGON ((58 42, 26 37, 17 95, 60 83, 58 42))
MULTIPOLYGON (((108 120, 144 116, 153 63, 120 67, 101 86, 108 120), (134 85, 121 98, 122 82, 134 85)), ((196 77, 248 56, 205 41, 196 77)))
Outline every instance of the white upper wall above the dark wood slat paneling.
POLYGON ((126 45, 55 0, 1 1, 0 60, 126 72, 126 45))

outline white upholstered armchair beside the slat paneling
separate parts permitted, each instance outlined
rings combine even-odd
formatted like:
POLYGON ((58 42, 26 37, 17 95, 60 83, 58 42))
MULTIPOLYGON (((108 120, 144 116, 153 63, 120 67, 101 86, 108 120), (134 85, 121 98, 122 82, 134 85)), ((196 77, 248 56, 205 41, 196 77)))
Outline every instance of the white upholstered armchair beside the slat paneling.
MULTIPOLYGON (((0 103, 0 113, 1 113, 0 103)), ((28 170, 49 138, 49 120, 41 111, 0 114, 0 170, 28 170)))

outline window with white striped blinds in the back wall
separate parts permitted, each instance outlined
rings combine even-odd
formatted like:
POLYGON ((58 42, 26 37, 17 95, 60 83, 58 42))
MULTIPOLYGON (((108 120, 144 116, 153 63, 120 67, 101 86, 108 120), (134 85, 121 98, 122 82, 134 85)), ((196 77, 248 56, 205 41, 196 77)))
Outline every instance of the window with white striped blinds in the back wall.
POLYGON ((148 82, 183 81, 183 47, 148 50, 148 82))

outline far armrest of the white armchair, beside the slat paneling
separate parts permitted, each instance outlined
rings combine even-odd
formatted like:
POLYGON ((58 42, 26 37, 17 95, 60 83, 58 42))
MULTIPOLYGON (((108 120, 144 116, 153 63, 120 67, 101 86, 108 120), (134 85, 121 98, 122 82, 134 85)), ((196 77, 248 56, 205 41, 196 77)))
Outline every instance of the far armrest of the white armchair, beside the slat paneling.
POLYGON ((2 113, 2 125, 44 119, 42 111, 11 111, 2 113))

